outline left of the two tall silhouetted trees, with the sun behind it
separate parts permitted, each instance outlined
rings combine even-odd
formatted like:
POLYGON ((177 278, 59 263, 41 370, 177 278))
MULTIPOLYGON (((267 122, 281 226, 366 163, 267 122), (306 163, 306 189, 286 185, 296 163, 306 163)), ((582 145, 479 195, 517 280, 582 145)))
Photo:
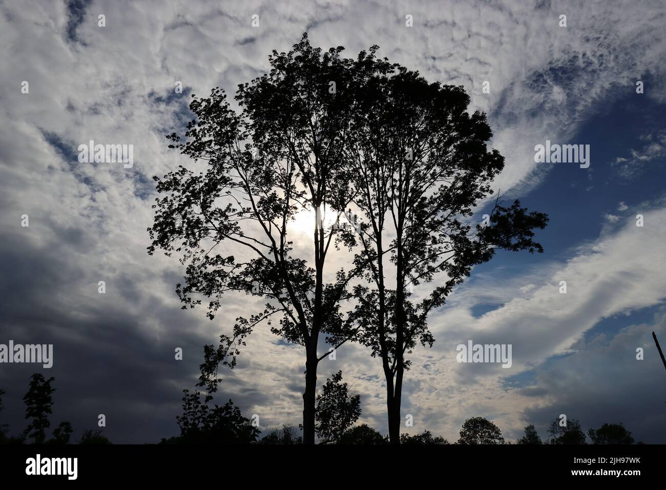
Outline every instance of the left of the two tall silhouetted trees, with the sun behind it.
POLYGON ((348 284, 360 267, 325 274, 331 245, 353 245, 346 227, 329 227, 326 213, 339 214, 352 199, 348 143, 358 110, 356 87, 368 78, 374 51, 356 61, 340 56, 342 47, 325 53, 304 35, 289 53, 273 51, 270 73, 239 85, 234 111, 219 88, 190 103, 196 119, 184 139, 172 133, 172 145, 206 169, 178 167, 157 181, 165 195, 157 199, 149 229, 149 253, 161 248, 178 253, 186 265, 184 285, 176 291, 185 307, 208 297, 208 317, 222 295, 242 291, 263 297, 263 311, 236 320, 220 345, 208 345, 200 378, 216 389, 218 366, 233 367, 247 335, 260 323, 305 349, 303 393, 304 443, 314 443, 314 409, 320 335, 330 347, 354 337, 340 302, 350 298, 348 284), (302 211, 312 213, 312 255, 296 256, 290 223, 302 211), (236 253, 230 254, 230 247, 236 253), (310 259, 308 261, 308 258, 310 259), (328 279, 330 277, 330 280, 328 279))

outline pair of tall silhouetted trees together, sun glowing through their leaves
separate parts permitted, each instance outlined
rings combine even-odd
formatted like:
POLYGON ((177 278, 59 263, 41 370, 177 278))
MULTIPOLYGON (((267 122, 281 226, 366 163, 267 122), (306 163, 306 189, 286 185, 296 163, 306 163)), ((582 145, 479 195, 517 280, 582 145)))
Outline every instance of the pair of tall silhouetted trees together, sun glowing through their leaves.
POLYGON ((270 72, 238 86, 240 111, 219 87, 208 98, 193 96, 196 119, 184 135, 167 137, 194 169, 154 177, 161 197, 149 253, 180 258, 183 308, 206 299, 213 319, 226 293, 266 301, 236 319, 218 347, 206 346, 200 386, 214 391, 218 366, 234 367, 246 337, 265 321, 305 347, 304 441, 314 443, 316 369, 326 357, 318 339, 332 347, 361 341, 382 359, 389 433, 398 443, 408 355, 434 342, 428 313, 497 249, 541 252, 533 229, 547 217, 498 198, 490 225, 473 225, 472 210, 503 169, 503 157, 486 147, 486 116, 468 112, 462 87, 378 59, 377 46, 356 59, 342 57, 343 49, 322 52, 305 34, 292 51, 273 51, 270 72), (352 206, 362 222, 338 226, 352 206), (314 215, 310 260, 288 236, 301 211, 314 215), (326 227, 326 213, 338 225, 326 227), (326 257, 341 246, 356 251, 352 267, 325 279, 326 257), (437 273, 446 275, 440 285, 410 301, 408 285, 437 273), (357 277, 364 283, 350 291, 357 277), (354 303, 349 315, 346 301, 354 303))

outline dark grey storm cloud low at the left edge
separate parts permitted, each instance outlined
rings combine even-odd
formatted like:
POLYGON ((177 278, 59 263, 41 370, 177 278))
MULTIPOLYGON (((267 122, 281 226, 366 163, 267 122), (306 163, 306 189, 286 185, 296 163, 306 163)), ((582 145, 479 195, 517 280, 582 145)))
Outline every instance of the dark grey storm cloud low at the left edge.
POLYGON ((192 387, 196 378, 204 339, 192 335, 191 318, 135 287, 144 279, 136 275, 121 274, 107 281, 106 294, 97 293, 97 278, 74 259, 85 253, 91 237, 69 230, 54 238, 34 247, 27 233, 11 234, 0 244, 5 278, 0 283, 1 342, 54 346, 51 369, 5 364, 0 370, 10 433, 23 429, 18 423, 21 397, 29 375, 38 371, 56 378, 55 415, 71 421, 77 434, 95 427, 99 413, 107 415, 105 433, 112 441, 147 442, 136 424, 155 425, 156 414, 164 435, 177 432, 159 414, 165 405, 170 415, 178 413, 178 392, 192 387), (86 290, 93 292, 77 299, 86 290), (63 302, 65 293, 69 297, 63 302), (160 330, 171 335, 145 329, 141 311, 151 309, 160 330), (184 350, 183 361, 174 359, 175 347, 184 350))

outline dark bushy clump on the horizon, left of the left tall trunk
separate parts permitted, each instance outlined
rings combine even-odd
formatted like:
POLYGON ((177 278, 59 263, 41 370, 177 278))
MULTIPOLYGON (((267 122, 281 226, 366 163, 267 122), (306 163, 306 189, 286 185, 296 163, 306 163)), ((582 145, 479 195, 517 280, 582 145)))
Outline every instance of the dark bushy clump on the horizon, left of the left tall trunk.
POLYGON ((249 444, 256 442, 260 434, 250 419, 243 417, 240 409, 231 400, 210 407, 212 399, 206 396, 201 401, 198 391, 183 390, 182 415, 177 415, 180 437, 163 439, 165 444, 249 444))

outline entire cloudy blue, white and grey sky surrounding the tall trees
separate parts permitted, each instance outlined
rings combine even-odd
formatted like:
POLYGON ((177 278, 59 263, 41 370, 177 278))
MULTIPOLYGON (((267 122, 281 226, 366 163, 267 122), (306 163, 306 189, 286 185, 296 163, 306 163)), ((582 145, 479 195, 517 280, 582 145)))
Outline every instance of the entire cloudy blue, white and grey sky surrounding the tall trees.
MULTIPOLYGON (((192 93, 233 93, 308 31, 325 49, 355 57, 380 45, 430 81, 463 85, 506 159, 495 188, 550 217, 545 253, 499 253, 432 313, 436 343, 414 353, 402 409, 414 427, 403 430, 454 441, 482 415, 505 437, 533 423, 543 438, 564 413, 585 430, 622 422, 637 440, 666 443, 666 371, 651 337, 666 345, 664 25, 661 0, 0 1, 0 343, 55 351, 51 369, 0 364, 0 423, 25 428, 21 399, 40 371, 56 378, 52 427, 69 420, 79 437, 103 413, 116 443, 178 433, 202 345, 252 303, 225 300, 214 321, 182 311, 182 267, 147 255, 151 177, 188 164, 164 135, 190 118, 192 93), (133 167, 79 163, 90 140, 134 145, 133 167), (590 145, 589 168, 535 163, 546 140, 590 145), (457 363, 469 339, 510 343, 511 368, 457 363)), ((220 399, 264 428, 296 425, 303 363, 301 347, 258 329, 220 399)), ((345 345, 320 381, 338 369, 362 394, 360 422, 386 433, 380 361, 345 345)))

